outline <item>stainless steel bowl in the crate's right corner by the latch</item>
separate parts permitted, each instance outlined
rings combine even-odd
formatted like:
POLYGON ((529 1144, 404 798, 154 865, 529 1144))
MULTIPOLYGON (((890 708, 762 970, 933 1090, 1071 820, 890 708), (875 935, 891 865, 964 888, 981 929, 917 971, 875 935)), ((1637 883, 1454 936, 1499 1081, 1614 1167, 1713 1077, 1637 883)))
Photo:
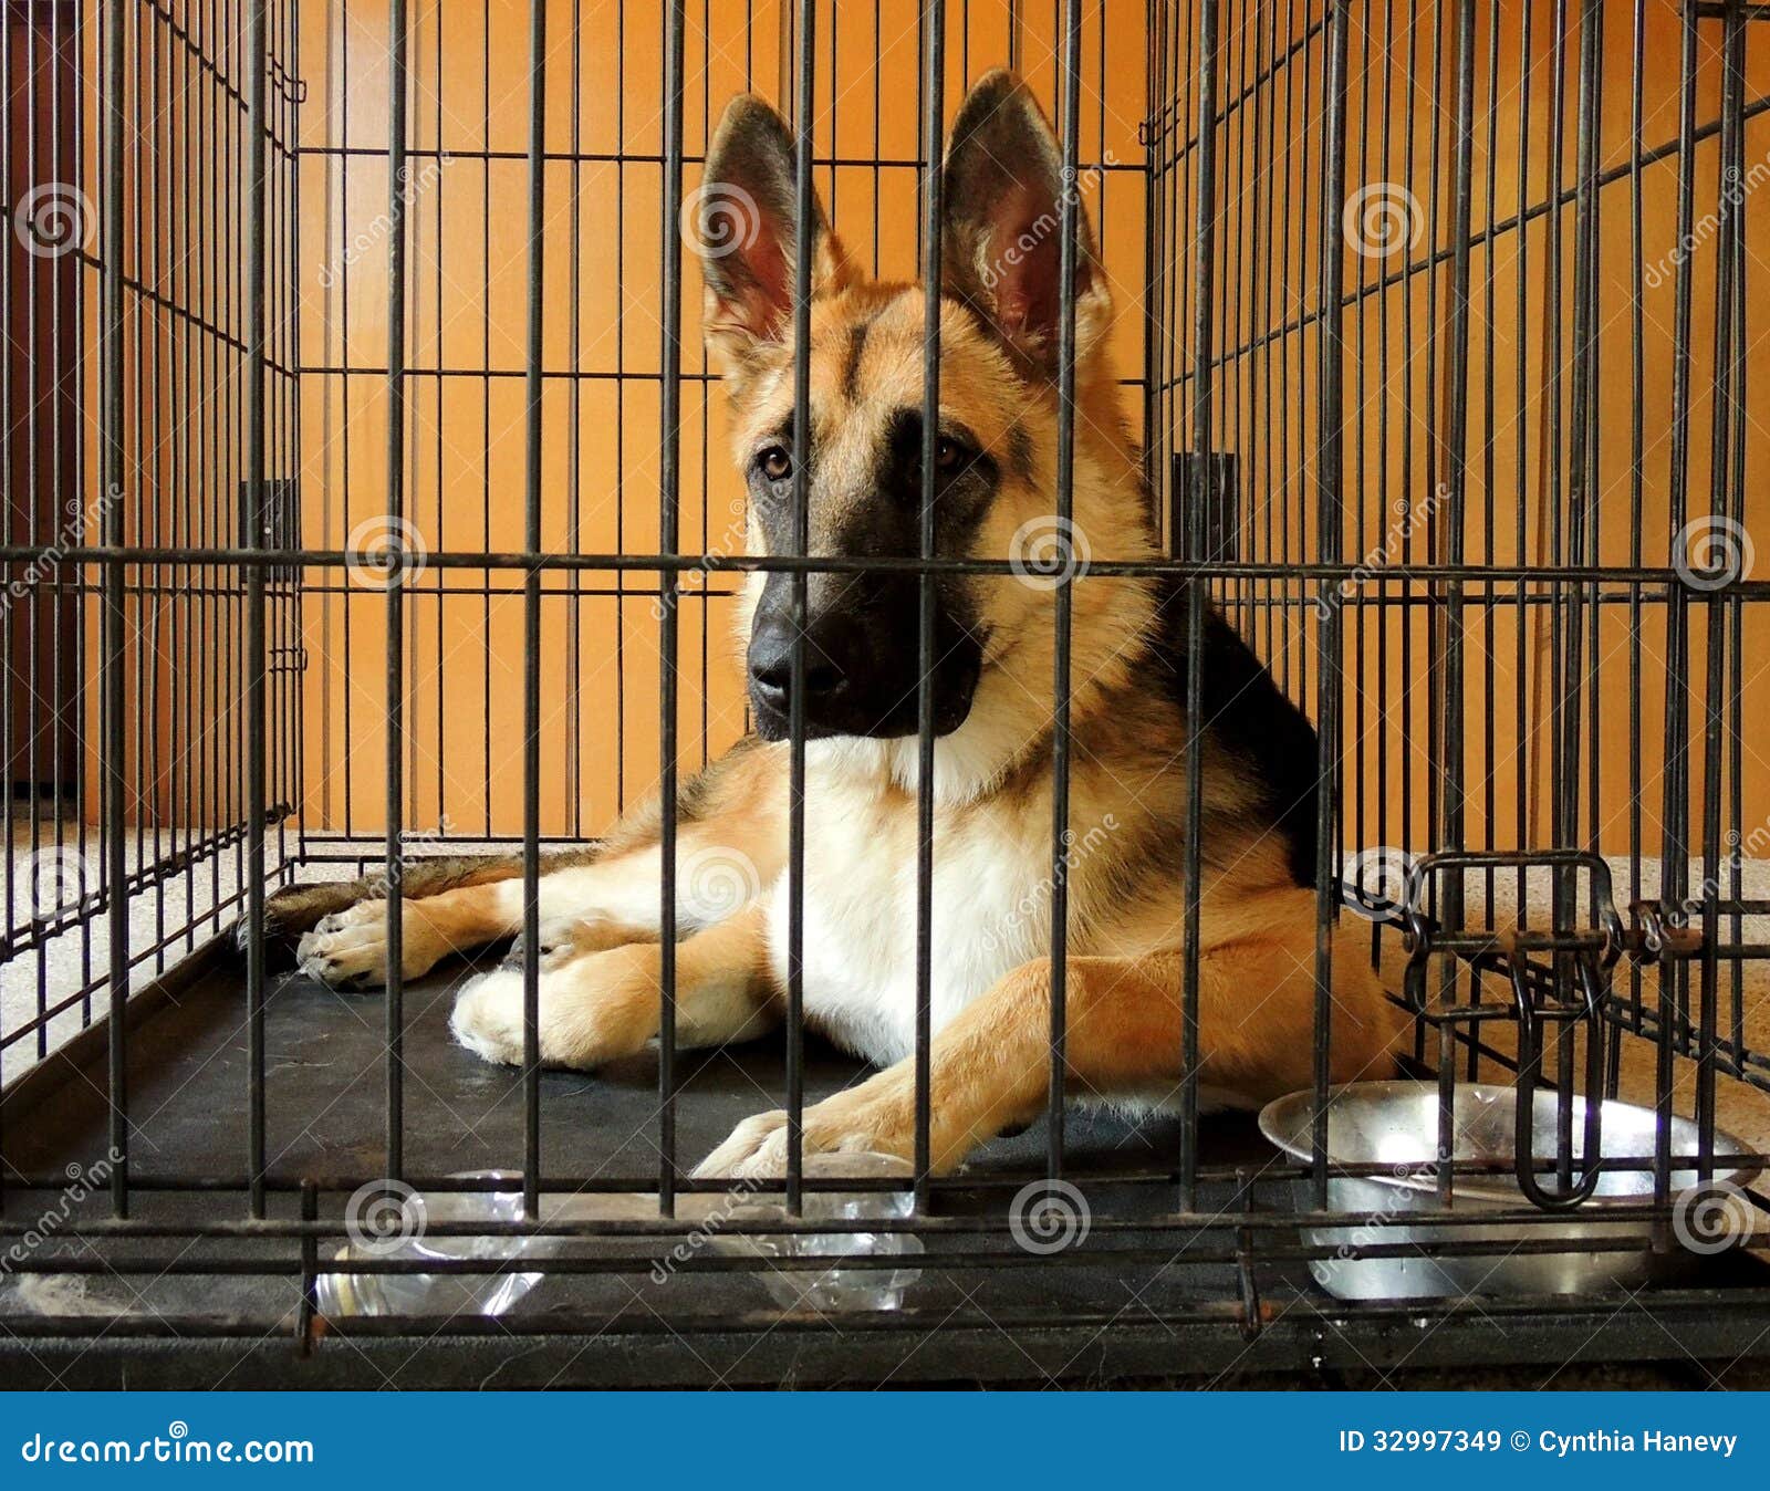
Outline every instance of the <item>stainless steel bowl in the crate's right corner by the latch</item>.
MULTIPOLYGON (((1458 1084, 1453 1130, 1453 1160, 1489 1160, 1512 1163, 1515 1155, 1515 1093, 1512 1087, 1458 1084)), ((1536 1093, 1538 1158, 1552 1158, 1556 1133, 1556 1094, 1536 1093)), ((1260 1112, 1260 1132, 1296 1158, 1310 1156, 1312 1093, 1292 1093, 1267 1103, 1260 1112)), ((1584 1103, 1574 1100, 1574 1146, 1581 1146, 1584 1103)), ((1648 1109, 1607 1101, 1600 1112, 1602 1151, 1605 1158, 1650 1160, 1653 1156, 1655 1117, 1648 1109)), ((1384 1165, 1386 1174, 1370 1178, 1333 1178, 1328 1181, 1328 1206, 1333 1211, 1372 1213, 1375 1222, 1359 1227, 1312 1227, 1304 1240, 1333 1248, 1333 1255, 1310 1261, 1315 1282, 1342 1300, 1437 1298, 1443 1294, 1589 1294, 1623 1286, 1639 1287, 1667 1270, 1689 1263, 1689 1254, 1655 1255, 1648 1248, 1598 1250, 1582 1243, 1616 1243, 1641 1238, 1644 1222, 1607 1222, 1607 1208, 1643 1204, 1653 1197, 1651 1170, 1604 1170, 1589 1201, 1551 1213, 1554 1220, 1487 1224, 1458 1227, 1435 1224, 1407 1225, 1407 1218, 1446 1215, 1437 1197, 1439 1091, 1435 1082, 1358 1082, 1338 1087, 1328 1110, 1328 1158, 1343 1165, 1384 1165), (1565 1252, 1487 1252, 1455 1257, 1446 1254, 1409 1254, 1395 1257, 1352 1257, 1352 1250, 1379 1245, 1418 1245, 1425 1241, 1510 1243, 1554 1238, 1565 1252)), ((1696 1124, 1671 1121, 1671 1153, 1694 1155, 1696 1124)), ((1743 1155, 1731 1135, 1715 1133, 1715 1156, 1743 1155)), ((1758 1174, 1756 1165, 1719 1165, 1715 1183, 1743 1186, 1758 1174)), ((1671 1172, 1673 1201, 1678 1215, 1692 1215, 1692 1202, 1713 1192, 1713 1183, 1697 1183, 1696 1170, 1671 1172)), ((1313 1211, 1308 1181, 1296 1188, 1297 1206, 1313 1211)), ((1481 1213, 1528 1208, 1529 1202, 1510 1174, 1458 1178, 1450 1213, 1480 1218, 1481 1213)), ((1710 1220, 1712 1225, 1712 1220, 1710 1220)), ((1676 1231, 1676 1229, 1674 1229, 1676 1231)), ((1708 1234, 1705 1234, 1708 1236, 1708 1234)), ((1540 1243, 1538 1243, 1540 1247, 1540 1243)), ((1717 1248, 1705 1248, 1713 1252, 1717 1248)))

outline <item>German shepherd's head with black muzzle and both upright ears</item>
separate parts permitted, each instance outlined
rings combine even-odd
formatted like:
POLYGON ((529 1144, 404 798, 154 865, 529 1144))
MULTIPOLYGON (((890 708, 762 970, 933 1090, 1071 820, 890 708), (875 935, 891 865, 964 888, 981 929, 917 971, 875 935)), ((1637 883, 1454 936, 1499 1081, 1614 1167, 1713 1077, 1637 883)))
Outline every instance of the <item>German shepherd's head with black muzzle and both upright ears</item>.
MULTIPOLYGON (((1005 73, 984 78, 959 110, 943 172, 935 552, 1020 560, 1027 577, 938 577, 933 692, 940 735, 965 724, 979 689, 989 687, 991 673, 1028 636, 1043 636, 1044 646, 1034 650, 1050 657, 1053 584, 1041 565, 1057 545, 1064 191, 1058 143, 1032 96, 1005 73)), ((1076 211, 1076 521, 1085 529, 1089 494, 1103 487, 1129 487, 1136 510, 1136 475, 1101 356, 1110 306, 1080 191, 1076 211)), ((749 483, 750 552, 795 552, 800 232, 811 239, 812 280, 805 552, 915 558, 926 290, 862 274, 816 200, 800 223, 793 136, 766 103, 740 97, 708 152, 699 253, 704 329, 726 375, 735 453, 749 483)), ((1087 547, 1089 535, 1076 537, 1087 547)), ((1133 537, 1133 552, 1138 542, 1133 537)), ((756 728, 781 738, 791 703, 793 581, 756 576, 745 595, 756 728)), ((809 576, 809 737, 915 733, 919 595, 912 570, 809 576)))

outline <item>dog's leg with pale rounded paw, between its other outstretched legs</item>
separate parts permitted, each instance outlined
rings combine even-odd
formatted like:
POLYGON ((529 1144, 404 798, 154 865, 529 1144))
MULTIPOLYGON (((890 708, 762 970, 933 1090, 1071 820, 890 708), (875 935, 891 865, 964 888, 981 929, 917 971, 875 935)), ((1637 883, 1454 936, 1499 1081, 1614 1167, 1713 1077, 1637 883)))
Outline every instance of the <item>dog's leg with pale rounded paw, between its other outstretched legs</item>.
MULTIPOLYGON (((766 903, 676 944, 676 1045, 747 1041, 781 1020, 768 972, 766 903)), ((664 949, 634 942, 550 960, 540 974, 540 1055, 549 1066, 598 1066, 634 1055, 658 1032, 664 949)), ((503 967, 467 983, 450 1029, 487 1061, 522 1062, 522 972, 503 967)))

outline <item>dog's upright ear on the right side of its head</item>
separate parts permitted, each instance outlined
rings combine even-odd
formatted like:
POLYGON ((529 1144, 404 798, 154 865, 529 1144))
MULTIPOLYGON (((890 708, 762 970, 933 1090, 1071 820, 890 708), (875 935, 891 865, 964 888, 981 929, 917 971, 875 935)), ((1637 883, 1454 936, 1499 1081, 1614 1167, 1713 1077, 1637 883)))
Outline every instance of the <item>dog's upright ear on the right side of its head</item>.
POLYGON ((952 124, 942 184, 942 282, 1025 363, 1057 370, 1062 202, 1076 197, 1076 352, 1094 347, 1112 305, 1076 182, 1057 135, 1012 73, 989 73, 952 124))

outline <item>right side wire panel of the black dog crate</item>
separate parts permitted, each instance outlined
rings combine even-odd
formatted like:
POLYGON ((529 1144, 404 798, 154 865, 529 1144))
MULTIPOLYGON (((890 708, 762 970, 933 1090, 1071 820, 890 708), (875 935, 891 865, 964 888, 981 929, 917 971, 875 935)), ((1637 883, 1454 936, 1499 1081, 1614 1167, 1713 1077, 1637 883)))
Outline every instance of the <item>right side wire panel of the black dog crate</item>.
MULTIPOLYGON (((1154 221, 1211 278, 1163 285, 1150 471, 1170 508, 1202 494, 1207 558, 1276 567, 1220 591, 1299 703, 1336 705, 1354 900, 1400 901, 1434 848, 1604 855, 1625 914, 1715 947, 1628 965, 1612 1015, 1690 1055, 1713 1000, 1719 1062, 1761 1084, 1765 614, 1728 586, 1765 459, 1765 34, 1701 5, 1347 7, 1336 143, 1331 14, 1228 7, 1209 60, 1197 7, 1166 34, 1154 221), (1294 577, 1326 560, 1351 574, 1294 577)), ((1552 887, 1489 868, 1467 894, 1531 924, 1552 887)), ((1616 1055, 1651 1093, 1651 1052, 1616 1055)))

